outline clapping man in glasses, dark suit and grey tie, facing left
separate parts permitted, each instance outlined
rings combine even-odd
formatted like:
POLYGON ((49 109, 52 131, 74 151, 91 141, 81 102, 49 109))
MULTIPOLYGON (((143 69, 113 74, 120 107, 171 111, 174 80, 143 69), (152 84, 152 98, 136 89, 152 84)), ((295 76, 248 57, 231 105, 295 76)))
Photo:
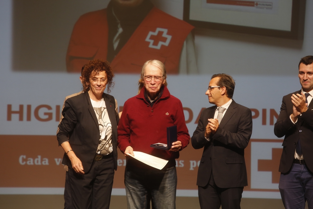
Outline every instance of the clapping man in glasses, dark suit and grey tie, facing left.
POLYGON ((244 148, 252 134, 252 114, 231 99, 234 88, 231 76, 212 76, 206 95, 215 106, 203 110, 191 138, 195 149, 204 147, 197 178, 201 208, 240 208, 248 185, 244 148))

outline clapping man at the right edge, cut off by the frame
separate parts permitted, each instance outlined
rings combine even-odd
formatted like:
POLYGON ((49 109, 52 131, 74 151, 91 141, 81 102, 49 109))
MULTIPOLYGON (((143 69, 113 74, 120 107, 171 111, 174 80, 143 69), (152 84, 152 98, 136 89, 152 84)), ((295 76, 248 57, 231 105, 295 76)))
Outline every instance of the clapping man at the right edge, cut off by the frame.
POLYGON ((313 56, 299 63, 302 89, 283 97, 274 126, 283 137, 279 190, 286 209, 313 208, 313 56), (308 107, 307 107, 308 104, 308 107))

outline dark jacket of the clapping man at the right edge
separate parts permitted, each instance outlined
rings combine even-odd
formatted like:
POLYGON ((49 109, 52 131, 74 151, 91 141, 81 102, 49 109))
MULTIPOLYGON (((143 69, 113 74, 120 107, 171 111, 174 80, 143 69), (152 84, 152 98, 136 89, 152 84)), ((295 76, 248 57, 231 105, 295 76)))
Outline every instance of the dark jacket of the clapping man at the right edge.
POLYGON ((274 133, 277 137, 283 137, 283 153, 280 158, 279 171, 287 173, 295 158, 295 147, 300 139, 303 158, 305 163, 313 171, 313 100, 310 102, 308 110, 298 117, 296 124, 290 120, 292 114, 292 94, 301 94, 301 91, 288 94, 283 97, 280 113, 274 126, 274 133))

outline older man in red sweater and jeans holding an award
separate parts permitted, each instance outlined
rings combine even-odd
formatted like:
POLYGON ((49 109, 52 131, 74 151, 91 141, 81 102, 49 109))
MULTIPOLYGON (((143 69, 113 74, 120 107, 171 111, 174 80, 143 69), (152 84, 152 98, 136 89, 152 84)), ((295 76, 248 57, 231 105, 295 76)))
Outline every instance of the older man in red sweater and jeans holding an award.
POLYGON ((135 159, 128 159, 125 188, 128 208, 145 208, 151 194, 156 209, 174 209, 176 161, 179 151, 189 143, 182 103, 167 89, 166 71, 159 60, 147 61, 141 71, 139 94, 128 99, 118 126, 118 147, 126 153, 140 151, 168 160, 162 170, 135 159), (166 128, 177 126, 177 141, 170 150, 154 149, 150 144, 167 144, 166 128))

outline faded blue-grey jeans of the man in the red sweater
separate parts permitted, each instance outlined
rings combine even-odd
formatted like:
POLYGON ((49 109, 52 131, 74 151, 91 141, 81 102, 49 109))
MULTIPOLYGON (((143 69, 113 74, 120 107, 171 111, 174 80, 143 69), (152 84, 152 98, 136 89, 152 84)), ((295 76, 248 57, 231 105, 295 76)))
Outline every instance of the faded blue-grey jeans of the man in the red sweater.
POLYGON ((176 167, 163 170, 126 165, 125 189, 128 209, 146 208, 147 194, 151 194, 155 209, 175 209, 176 167))

